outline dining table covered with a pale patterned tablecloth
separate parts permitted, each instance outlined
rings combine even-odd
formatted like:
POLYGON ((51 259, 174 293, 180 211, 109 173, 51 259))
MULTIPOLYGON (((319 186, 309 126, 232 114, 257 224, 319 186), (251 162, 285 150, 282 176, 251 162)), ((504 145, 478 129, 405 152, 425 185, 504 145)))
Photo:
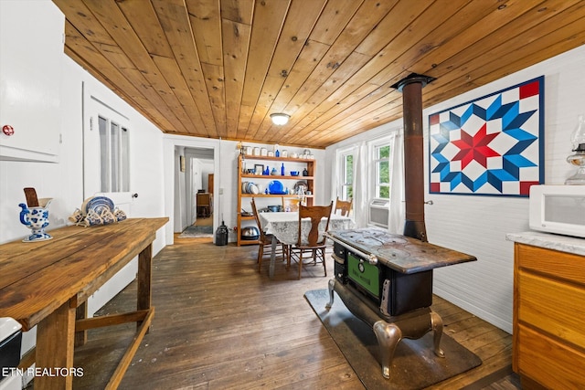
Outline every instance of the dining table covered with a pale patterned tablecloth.
MULTIPOLYGON (((276 262, 276 246, 278 243, 284 245, 296 245, 299 237, 299 213, 292 212, 266 212, 259 213, 261 229, 269 235, 271 240, 271 261, 269 267, 269 277, 274 277, 274 264, 276 262)), ((311 219, 303 218, 301 225, 301 235, 308 234, 311 230, 311 219)), ((323 218, 319 224, 319 232, 324 233, 327 219, 323 218)), ((349 216, 340 216, 332 214, 329 218, 328 230, 345 230, 355 227, 353 219, 349 216)))

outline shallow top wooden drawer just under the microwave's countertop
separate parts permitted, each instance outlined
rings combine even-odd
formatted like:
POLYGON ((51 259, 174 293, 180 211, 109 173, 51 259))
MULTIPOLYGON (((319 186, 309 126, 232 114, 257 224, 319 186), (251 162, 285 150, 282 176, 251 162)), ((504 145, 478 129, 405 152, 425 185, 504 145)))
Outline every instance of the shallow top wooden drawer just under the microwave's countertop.
POLYGON ((585 285, 585 257, 516 243, 516 268, 585 285))

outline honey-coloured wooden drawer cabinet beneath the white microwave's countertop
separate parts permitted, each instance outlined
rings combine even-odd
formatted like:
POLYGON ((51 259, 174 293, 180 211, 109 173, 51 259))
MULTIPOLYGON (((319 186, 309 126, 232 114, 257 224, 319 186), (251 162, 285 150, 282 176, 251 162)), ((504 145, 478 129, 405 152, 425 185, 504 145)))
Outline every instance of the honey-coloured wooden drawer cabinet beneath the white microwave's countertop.
POLYGON ((515 244, 514 359, 523 388, 585 388, 585 257, 515 244))

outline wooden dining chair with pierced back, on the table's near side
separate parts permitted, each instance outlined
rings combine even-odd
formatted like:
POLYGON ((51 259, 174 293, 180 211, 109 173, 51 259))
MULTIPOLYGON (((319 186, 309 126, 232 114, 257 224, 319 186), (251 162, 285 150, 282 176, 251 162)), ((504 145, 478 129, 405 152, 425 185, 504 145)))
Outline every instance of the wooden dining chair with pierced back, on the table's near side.
POLYGON ((325 266, 325 248, 326 239, 323 233, 329 228, 329 220, 331 218, 331 210, 333 209, 333 201, 329 206, 299 206, 299 237, 296 245, 289 248, 289 257, 287 264, 290 266, 291 259, 299 264, 299 279, 301 279, 301 272, 303 271, 303 255, 311 253, 313 263, 323 263, 324 276, 327 276, 327 268, 325 266), (303 234, 303 219, 311 218, 311 227, 303 234), (322 219, 326 218, 323 230, 319 230, 319 224, 322 219))

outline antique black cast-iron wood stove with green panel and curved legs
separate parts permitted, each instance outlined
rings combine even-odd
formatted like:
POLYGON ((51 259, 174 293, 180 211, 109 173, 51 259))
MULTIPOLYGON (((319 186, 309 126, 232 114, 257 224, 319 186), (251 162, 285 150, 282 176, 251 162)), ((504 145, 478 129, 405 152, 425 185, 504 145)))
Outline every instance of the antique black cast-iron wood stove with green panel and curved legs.
POLYGON ((386 230, 330 231, 334 241, 334 291, 378 338, 382 375, 390 377, 392 358, 403 338, 420 339, 433 331, 434 353, 441 351, 442 320, 431 311, 432 269, 473 261, 473 256, 386 230))

